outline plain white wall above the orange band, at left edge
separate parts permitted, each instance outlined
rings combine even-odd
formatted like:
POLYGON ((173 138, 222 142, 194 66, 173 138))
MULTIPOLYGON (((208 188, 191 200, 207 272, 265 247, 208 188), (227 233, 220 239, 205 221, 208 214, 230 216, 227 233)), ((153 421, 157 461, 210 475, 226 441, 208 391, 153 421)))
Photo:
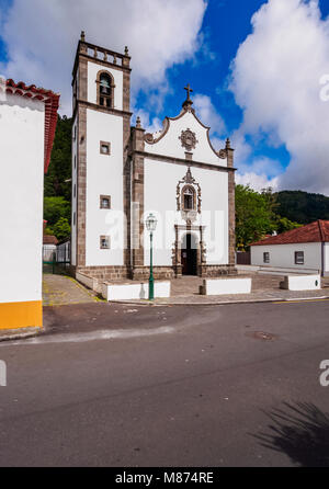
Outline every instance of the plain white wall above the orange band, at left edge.
POLYGON ((45 105, 0 98, 0 303, 42 300, 45 105))

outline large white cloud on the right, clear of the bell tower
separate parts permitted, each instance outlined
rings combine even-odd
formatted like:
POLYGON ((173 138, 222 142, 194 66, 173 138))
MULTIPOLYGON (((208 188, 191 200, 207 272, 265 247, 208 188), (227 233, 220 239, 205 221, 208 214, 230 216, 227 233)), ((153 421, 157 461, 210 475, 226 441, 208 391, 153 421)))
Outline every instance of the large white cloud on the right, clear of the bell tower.
POLYGON ((269 0, 252 26, 232 64, 240 133, 266 133, 269 144, 286 146, 291 164, 280 187, 329 194, 329 103, 319 83, 329 73, 329 20, 317 0, 269 0))

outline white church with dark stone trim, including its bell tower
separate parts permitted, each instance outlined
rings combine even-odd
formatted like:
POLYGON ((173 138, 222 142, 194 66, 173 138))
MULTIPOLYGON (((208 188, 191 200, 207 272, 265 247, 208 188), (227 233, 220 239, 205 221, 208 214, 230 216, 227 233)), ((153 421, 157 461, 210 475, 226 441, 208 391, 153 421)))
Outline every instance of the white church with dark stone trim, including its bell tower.
POLYGON ((86 41, 72 72, 71 266, 103 281, 217 277, 235 269, 235 166, 186 99, 148 134, 132 126, 131 57, 86 41))

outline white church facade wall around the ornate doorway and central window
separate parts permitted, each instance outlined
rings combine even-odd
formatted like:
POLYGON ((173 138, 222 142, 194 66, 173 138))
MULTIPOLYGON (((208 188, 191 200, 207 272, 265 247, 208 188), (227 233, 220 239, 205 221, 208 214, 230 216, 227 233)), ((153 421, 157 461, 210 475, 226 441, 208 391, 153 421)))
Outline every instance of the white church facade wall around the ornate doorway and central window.
MULTIPOLYGON (((145 217, 152 212, 158 218, 155 232, 154 263, 172 266, 174 225, 186 225, 177 212, 177 185, 185 177, 188 166, 145 159, 145 217), (162 192, 163 189, 163 192, 162 192)), ((226 172, 191 168, 202 190, 202 215, 194 226, 206 226, 204 242, 207 264, 228 263, 228 175, 226 172)), ((180 231, 180 239, 186 231, 180 231)), ((200 234, 193 231, 197 237, 200 234)), ((145 264, 149 263, 149 234, 144 237, 145 264)))

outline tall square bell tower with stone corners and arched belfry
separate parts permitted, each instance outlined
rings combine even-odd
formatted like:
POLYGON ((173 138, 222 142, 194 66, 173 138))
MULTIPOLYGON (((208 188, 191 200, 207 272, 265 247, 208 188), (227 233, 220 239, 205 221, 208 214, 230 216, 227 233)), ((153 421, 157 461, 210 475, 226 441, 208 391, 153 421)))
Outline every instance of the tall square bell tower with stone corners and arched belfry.
MULTIPOLYGON (((111 278, 127 276, 131 57, 86 41, 72 72, 71 264, 111 278)), ((101 275, 100 275, 101 277, 101 275)))

